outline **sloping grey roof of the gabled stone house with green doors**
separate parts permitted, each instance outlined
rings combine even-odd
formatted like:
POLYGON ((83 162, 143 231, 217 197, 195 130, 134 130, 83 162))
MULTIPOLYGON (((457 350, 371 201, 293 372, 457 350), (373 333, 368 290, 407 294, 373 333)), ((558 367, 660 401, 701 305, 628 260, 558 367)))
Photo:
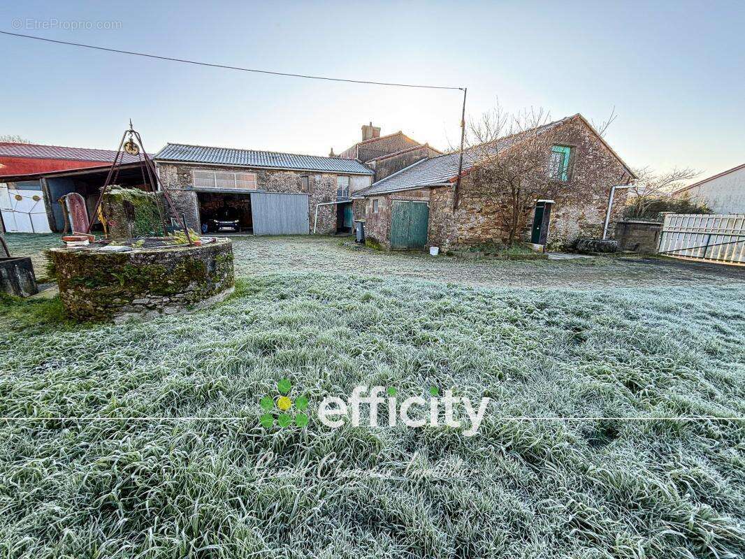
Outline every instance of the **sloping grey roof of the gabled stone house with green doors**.
MULTIPOLYGON (((572 117, 568 118, 571 119, 572 117)), ((546 130, 549 127, 557 126, 565 120, 567 119, 549 122, 535 130, 546 130)), ((514 136, 500 138, 489 151, 502 151, 509 148, 510 145, 516 142, 520 137, 521 134, 516 134, 514 136)), ((484 148, 478 150, 472 148, 471 150, 463 151, 463 171, 468 171, 475 162, 478 162, 478 160, 484 156, 484 148)), ((454 154, 445 154, 438 157, 432 157, 431 159, 422 160, 398 171, 397 173, 390 174, 382 180, 378 180, 378 182, 373 183, 370 188, 356 192, 355 196, 374 196, 387 194, 388 192, 416 190, 425 186, 445 186, 450 184, 450 179, 457 177, 459 162, 460 151, 457 151, 454 154)))

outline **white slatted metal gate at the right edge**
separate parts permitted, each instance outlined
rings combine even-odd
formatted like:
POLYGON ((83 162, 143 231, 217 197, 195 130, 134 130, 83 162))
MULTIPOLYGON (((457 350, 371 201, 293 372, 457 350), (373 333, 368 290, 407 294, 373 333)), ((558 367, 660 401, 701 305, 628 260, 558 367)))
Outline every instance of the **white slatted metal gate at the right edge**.
POLYGON ((665 215, 657 253, 745 263, 745 215, 665 215))

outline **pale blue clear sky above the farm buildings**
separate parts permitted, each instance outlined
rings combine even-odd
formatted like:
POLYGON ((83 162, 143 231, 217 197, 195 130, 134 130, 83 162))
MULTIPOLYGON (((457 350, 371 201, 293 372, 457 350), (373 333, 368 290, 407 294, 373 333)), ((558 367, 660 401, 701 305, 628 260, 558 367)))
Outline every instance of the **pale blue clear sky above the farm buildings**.
MULTIPOLYGON (((280 72, 468 86, 603 120, 633 167, 745 162, 745 2, 5 3, 0 29, 280 72), (55 24, 55 20, 57 23, 55 24), (69 22, 121 22, 70 29, 69 22), (51 28, 45 28, 50 27, 51 28), (66 28, 63 28, 66 27, 66 28)), ((130 117, 165 142, 326 155, 361 124, 456 142, 459 92, 231 72, 0 35, 0 133, 115 148, 130 117)))

